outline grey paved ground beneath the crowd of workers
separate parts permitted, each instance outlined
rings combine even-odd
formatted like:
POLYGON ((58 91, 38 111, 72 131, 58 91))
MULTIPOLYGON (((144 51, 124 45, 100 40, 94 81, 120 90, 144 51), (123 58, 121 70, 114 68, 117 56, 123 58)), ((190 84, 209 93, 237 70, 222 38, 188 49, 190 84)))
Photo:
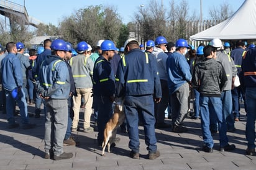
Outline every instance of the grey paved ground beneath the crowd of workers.
MULTIPOLYGON (((29 106, 29 112, 34 107, 29 106)), ((20 117, 16 117, 20 122, 20 117)), ((31 130, 6 128, 6 115, 0 113, 0 169, 256 169, 256 156, 246 156, 245 149, 245 113, 242 109, 240 122, 235 122, 237 130, 227 133, 230 143, 236 145, 232 152, 219 152, 218 135, 214 135, 216 145, 213 153, 201 151, 202 137, 200 120, 185 119, 190 129, 187 133, 173 133, 170 129, 156 129, 158 150, 157 159, 147 159, 144 142, 144 130, 140 127, 140 159, 129 158, 129 137, 127 133, 117 131, 121 141, 112 148, 111 153, 101 156, 97 146, 97 132, 73 134, 80 146, 64 146, 66 152, 72 152, 73 158, 61 161, 44 159, 44 117, 30 118, 37 123, 31 130)), ((170 120, 167 120, 170 122, 170 120)))

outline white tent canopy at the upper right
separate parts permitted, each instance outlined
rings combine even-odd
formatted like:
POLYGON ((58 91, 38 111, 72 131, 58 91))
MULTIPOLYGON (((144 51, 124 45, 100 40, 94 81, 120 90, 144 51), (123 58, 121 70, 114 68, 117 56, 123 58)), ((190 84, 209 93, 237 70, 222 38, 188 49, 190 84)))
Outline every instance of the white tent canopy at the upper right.
POLYGON ((190 37, 191 40, 203 41, 213 38, 221 40, 256 39, 256 1, 245 0, 227 20, 190 37))

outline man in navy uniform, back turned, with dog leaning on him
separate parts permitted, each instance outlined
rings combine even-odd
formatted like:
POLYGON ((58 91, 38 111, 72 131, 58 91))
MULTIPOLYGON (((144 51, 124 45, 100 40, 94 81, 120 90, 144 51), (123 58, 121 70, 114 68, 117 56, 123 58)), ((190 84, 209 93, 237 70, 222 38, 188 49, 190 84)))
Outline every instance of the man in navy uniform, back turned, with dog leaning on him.
POLYGON ((154 101, 161 101, 160 79, 155 56, 139 49, 139 43, 129 38, 124 43, 127 55, 119 62, 116 73, 117 97, 124 97, 129 132, 130 158, 139 159, 139 120, 144 125, 149 159, 160 156, 155 137, 154 101), (139 119, 140 118, 140 119, 139 119))

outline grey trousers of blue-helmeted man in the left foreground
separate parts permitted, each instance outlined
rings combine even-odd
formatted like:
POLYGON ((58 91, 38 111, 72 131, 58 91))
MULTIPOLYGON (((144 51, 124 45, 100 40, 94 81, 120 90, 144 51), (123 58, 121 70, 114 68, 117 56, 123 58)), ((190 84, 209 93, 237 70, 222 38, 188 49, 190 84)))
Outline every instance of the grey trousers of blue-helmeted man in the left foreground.
POLYGON ((63 153, 63 140, 68 123, 67 99, 45 100, 45 153, 50 150, 59 156, 63 153))

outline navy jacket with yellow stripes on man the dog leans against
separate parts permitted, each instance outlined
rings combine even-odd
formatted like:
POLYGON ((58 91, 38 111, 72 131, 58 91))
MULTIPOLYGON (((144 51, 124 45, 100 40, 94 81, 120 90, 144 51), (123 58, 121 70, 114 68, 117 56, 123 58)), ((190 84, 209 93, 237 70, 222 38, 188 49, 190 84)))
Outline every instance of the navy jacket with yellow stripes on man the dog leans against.
POLYGON ((117 97, 151 95, 162 97, 155 56, 139 48, 130 50, 117 67, 117 97))

